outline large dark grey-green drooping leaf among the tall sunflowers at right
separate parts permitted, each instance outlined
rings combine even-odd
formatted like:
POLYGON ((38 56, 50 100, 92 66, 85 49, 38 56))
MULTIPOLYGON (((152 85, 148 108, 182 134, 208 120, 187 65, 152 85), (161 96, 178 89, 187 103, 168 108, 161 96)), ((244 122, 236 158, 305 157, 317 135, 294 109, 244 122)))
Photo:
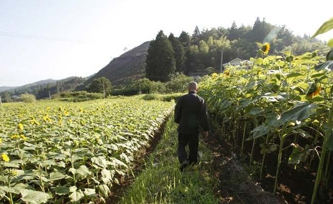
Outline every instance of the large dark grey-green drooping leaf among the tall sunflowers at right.
POLYGON ((309 116, 317 113, 317 105, 315 104, 301 104, 281 114, 280 121, 302 121, 309 116))

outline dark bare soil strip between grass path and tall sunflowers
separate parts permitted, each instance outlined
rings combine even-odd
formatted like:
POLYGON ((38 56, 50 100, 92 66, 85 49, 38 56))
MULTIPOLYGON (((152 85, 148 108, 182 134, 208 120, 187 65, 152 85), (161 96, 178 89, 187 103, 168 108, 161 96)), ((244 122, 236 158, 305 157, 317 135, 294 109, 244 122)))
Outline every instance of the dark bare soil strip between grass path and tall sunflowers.
POLYGON ((219 187, 215 194, 220 197, 221 203, 246 203, 246 204, 282 204, 288 203, 281 197, 266 192, 244 170, 232 145, 226 141, 218 141, 221 138, 213 130, 204 143, 209 146, 214 155, 213 171, 219 180, 219 187), (223 146, 222 146, 222 145, 223 146))

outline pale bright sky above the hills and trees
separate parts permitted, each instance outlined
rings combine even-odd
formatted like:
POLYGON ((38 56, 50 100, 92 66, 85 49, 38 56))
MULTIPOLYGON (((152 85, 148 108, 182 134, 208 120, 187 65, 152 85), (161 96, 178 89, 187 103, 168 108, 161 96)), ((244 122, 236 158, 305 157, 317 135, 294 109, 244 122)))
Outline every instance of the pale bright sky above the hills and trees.
MULTIPOLYGON (((179 36, 196 25, 253 25, 260 17, 313 35, 333 17, 332 6, 328 0, 0 0, 0 86, 88 77, 159 30, 179 36)), ((318 38, 327 41, 333 32, 318 38)))

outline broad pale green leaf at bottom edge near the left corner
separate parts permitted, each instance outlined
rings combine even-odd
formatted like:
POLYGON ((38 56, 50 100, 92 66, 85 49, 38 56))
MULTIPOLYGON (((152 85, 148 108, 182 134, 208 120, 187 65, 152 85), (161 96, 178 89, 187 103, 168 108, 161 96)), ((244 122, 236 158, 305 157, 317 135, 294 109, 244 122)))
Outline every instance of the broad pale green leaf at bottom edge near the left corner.
POLYGON ((31 204, 39 204, 39 203, 46 203, 52 196, 48 193, 44 193, 41 191, 33 191, 28 189, 20 190, 22 195, 21 199, 26 203, 31 204))

